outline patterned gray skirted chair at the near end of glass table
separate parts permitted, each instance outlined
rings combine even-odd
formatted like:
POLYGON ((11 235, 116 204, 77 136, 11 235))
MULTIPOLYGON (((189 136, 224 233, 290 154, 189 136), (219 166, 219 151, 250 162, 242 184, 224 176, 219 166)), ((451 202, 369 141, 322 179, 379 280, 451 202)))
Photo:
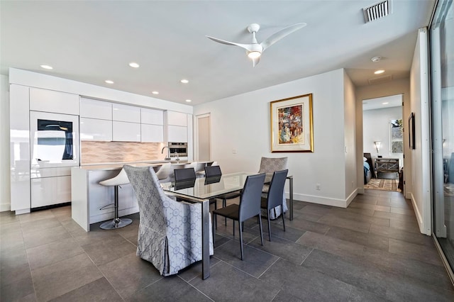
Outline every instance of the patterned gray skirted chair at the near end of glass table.
MULTIPOLYGON (((153 168, 125 165, 124 169, 140 211, 137 255, 153 263, 162 276, 177 274, 201 260, 201 204, 178 202, 167 196, 153 168)), ((209 254, 213 255, 213 237, 209 233, 209 254)))

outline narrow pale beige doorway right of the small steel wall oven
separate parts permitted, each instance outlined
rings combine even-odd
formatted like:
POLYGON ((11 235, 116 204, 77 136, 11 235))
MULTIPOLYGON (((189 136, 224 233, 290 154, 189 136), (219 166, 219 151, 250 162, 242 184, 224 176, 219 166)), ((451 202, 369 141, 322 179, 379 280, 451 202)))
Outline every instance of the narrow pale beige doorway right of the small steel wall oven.
POLYGON ((196 160, 209 162, 211 160, 211 130, 210 113, 196 116, 196 160))

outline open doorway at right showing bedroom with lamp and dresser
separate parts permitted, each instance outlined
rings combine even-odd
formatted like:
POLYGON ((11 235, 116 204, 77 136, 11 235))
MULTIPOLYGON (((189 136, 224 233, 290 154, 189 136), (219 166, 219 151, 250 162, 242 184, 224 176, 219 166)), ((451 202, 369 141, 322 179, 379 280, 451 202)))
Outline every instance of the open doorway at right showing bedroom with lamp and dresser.
POLYGON ((402 94, 362 101, 364 187, 403 191, 402 94))

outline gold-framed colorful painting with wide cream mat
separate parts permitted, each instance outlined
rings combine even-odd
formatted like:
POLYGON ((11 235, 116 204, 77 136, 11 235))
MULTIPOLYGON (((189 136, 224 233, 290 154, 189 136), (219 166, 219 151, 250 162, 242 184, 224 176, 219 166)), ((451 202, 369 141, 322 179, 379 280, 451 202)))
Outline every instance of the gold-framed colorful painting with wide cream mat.
POLYGON ((314 152, 312 94, 270 103, 271 152, 314 152))

